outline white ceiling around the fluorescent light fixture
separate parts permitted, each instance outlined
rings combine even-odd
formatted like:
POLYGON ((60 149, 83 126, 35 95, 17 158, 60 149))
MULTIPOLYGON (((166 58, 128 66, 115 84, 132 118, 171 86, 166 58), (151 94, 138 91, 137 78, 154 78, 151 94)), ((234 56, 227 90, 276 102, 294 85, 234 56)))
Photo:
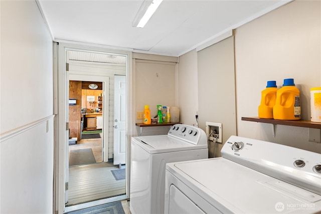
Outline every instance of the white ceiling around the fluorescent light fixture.
POLYGON ((40 8, 57 42, 181 56, 289 0, 165 0, 144 28, 132 27, 143 1, 49 1, 40 8))

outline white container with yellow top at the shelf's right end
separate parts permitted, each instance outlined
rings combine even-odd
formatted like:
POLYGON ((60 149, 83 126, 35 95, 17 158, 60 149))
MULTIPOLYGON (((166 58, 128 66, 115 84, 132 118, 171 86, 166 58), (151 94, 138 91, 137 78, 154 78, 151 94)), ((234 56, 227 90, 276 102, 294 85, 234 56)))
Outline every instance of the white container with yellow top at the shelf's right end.
POLYGON ((321 123, 321 87, 311 88, 311 122, 321 123))

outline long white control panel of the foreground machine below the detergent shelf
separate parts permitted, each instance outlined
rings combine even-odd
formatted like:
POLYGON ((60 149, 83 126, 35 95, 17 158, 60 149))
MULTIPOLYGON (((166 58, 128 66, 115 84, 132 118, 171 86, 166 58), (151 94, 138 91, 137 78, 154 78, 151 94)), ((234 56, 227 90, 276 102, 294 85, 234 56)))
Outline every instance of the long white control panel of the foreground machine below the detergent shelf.
POLYGON ((221 154, 224 158, 321 194, 321 154, 319 153, 267 141, 231 136, 224 144, 221 154), (304 179, 306 182, 302 181, 304 179))

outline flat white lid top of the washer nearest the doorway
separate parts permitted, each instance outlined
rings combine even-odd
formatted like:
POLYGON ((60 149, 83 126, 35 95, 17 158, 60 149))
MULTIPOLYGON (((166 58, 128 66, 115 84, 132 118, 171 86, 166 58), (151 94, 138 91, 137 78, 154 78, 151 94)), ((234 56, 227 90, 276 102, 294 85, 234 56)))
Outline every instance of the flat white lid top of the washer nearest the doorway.
POLYGON ((132 137, 132 141, 150 154, 207 149, 207 145, 195 145, 168 135, 132 137))

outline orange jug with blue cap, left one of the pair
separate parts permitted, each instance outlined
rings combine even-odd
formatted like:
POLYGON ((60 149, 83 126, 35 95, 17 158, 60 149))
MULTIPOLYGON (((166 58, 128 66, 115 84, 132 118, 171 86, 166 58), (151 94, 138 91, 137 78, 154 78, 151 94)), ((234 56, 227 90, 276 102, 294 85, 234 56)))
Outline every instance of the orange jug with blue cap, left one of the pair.
POLYGON ((276 81, 267 81, 266 89, 261 92, 259 118, 273 119, 273 106, 276 100, 276 81))

